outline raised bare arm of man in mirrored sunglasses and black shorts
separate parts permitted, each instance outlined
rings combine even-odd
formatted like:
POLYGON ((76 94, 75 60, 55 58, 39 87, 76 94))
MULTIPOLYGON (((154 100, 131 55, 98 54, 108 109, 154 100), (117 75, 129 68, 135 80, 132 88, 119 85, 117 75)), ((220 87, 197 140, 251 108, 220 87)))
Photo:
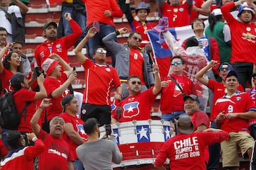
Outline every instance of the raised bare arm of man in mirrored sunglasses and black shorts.
POLYGON ((85 38, 83 38, 80 43, 78 44, 78 46, 75 47, 75 56, 77 57, 78 61, 80 62, 80 64, 84 64, 85 60, 87 60, 87 57, 85 57, 84 54, 82 54, 82 48, 85 47, 86 42, 92 38, 95 34, 96 34, 96 28, 92 27, 88 30, 87 35, 85 36, 85 38))

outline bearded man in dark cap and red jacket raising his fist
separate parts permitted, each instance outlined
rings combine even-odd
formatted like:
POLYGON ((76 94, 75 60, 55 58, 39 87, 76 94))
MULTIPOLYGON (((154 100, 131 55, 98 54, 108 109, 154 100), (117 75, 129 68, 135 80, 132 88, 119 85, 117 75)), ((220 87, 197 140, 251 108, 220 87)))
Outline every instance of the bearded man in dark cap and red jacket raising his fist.
POLYGON ((71 18, 70 13, 65 13, 64 17, 70 23, 73 33, 63 38, 57 38, 57 23, 46 23, 43 27, 43 36, 46 38, 46 41, 36 47, 34 56, 39 68, 53 53, 61 56, 68 63, 68 49, 75 45, 75 42, 82 35, 80 26, 71 18))

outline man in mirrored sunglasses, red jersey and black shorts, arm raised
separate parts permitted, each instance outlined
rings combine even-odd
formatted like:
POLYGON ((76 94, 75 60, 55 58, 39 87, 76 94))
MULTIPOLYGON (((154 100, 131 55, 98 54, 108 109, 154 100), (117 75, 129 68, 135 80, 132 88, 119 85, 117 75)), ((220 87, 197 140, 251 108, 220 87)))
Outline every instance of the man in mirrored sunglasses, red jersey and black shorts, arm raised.
POLYGON ((117 91, 115 99, 121 100, 122 86, 117 70, 106 64, 107 50, 105 47, 96 47, 93 52, 95 63, 82 54, 82 47, 96 34, 96 28, 88 30, 85 38, 75 47, 75 55, 85 68, 85 91, 82 100, 81 119, 96 118, 100 125, 110 124, 110 92, 112 87, 117 91))

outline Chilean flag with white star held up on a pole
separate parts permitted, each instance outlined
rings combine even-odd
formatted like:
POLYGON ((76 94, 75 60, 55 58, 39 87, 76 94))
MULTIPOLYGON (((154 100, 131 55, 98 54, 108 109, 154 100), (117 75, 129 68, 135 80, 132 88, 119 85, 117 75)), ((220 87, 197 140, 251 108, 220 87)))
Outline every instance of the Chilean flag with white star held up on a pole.
MULTIPOLYGON (((195 35, 191 26, 169 28, 169 31, 180 44, 183 40, 186 40, 186 38, 195 35)), ((161 35, 157 33, 155 29, 148 30, 147 33, 152 45, 153 54, 159 66, 160 76, 161 78, 167 77, 169 67, 171 66, 171 51, 167 47, 166 42, 164 42, 164 38, 161 38, 161 35)))

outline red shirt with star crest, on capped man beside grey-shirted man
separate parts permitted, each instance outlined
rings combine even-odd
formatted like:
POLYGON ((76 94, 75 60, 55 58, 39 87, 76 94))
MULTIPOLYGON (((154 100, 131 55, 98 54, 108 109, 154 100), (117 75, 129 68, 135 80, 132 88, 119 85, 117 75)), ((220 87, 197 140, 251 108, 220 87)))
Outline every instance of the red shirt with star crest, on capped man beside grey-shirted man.
MULTIPOLYGON (((83 138, 83 140, 87 141, 87 135, 86 135, 85 130, 83 128, 83 123, 84 122, 80 118, 77 118, 76 115, 72 116, 68 113, 61 113, 60 117, 63 118, 65 123, 71 123, 73 125, 73 128, 74 128, 75 132, 78 132, 78 134, 83 138)), ((78 155, 76 154, 75 149, 79 145, 77 145, 75 142, 73 142, 73 140, 70 139, 70 137, 68 137, 68 135, 65 132, 63 133, 63 140, 65 140, 69 144, 74 158, 78 159, 78 155)))

